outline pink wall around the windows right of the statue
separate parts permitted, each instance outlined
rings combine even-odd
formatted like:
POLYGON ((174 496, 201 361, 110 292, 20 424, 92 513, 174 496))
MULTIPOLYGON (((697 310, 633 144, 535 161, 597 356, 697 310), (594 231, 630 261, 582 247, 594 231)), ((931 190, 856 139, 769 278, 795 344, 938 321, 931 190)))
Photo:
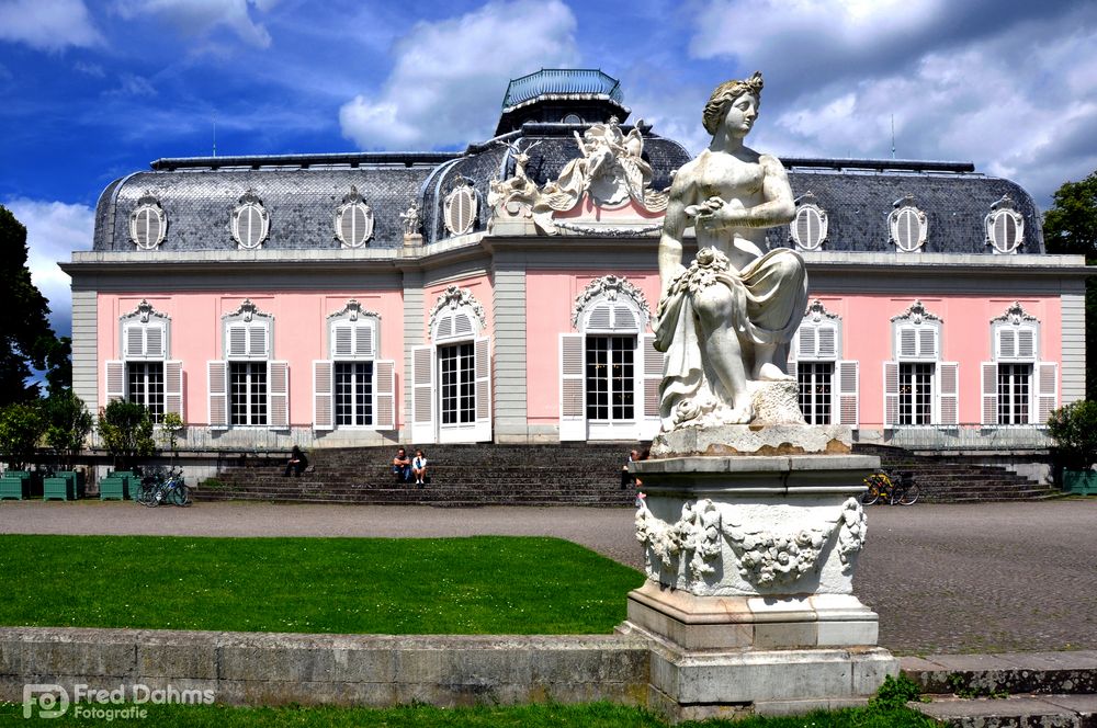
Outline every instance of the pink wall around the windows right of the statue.
MULTIPOLYGON (((827 310, 841 317, 842 359, 860 362, 860 424, 880 428, 883 421, 883 362, 892 359, 891 319, 903 314, 915 299, 813 293, 812 300, 815 298, 822 299, 827 310)), ((1002 316, 1017 299, 924 296, 920 300, 927 311, 943 320, 941 361, 960 363, 960 422, 980 422, 980 363, 994 359, 991 319, 1002 316)), ((1022 298, 1020 304, 1040 321, 1040 360, 1060 361, 1062 316, 1059 298, 1022 298)))

